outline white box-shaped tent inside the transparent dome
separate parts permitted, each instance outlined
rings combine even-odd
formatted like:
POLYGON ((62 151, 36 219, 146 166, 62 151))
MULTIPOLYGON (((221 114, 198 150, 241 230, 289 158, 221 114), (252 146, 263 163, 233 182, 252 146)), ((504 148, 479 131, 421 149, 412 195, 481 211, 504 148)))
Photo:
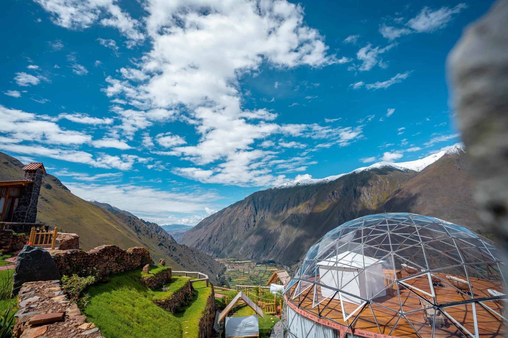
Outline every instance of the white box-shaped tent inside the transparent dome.
MULTIPOLYGON (((328 285, 334 289, 340 289, 359 297, 369 299, 386 295, 385 278, 383 277, 384 261, 359 253, 346 251, 334 257, 317 262, 321 284, 328 285), (369 272, 364 272, 364 267, 369 272), (375 273, 375 274, 371 274, 375 273)), ((321 288, 323 297, 340 299, 335 290, 321 288)), ((361 299, 342 293, 342 300, 361 304, 361 299)))

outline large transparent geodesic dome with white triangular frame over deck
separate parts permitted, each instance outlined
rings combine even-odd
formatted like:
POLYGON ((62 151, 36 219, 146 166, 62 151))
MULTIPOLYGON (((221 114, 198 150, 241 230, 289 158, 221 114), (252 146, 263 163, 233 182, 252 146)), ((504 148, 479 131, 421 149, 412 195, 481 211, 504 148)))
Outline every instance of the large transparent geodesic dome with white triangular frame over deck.
POLYGON ((434 217, 361 217, 310 247, 284 290, 283 324, 299 338, 501 336, 499 259, 490 241, 434 217))

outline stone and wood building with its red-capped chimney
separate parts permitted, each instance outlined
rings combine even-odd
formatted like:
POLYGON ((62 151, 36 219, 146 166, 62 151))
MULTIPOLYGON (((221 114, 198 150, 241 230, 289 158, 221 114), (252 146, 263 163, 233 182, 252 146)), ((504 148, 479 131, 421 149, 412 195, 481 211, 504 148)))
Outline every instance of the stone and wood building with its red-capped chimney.
POLYGON ((18 181, 0 182, 0 221, 35 223, 37 201, 42 177, 46 170, 42 163, 30 163, 23 167, 25 177, 18 181))

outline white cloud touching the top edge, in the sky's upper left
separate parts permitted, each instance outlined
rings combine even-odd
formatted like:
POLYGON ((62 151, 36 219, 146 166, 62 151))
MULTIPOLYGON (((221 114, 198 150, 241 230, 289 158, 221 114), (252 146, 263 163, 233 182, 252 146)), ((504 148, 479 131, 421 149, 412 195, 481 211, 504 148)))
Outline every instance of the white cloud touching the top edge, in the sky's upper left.
POLYGON ((115 5, 114 0, 35 0, 52 14, 53 23, 71 29, 87 28, 99 21, 104 26, 117 28, 130 40, 132 46, 145 39, 139 31, 139 22, 115 5))

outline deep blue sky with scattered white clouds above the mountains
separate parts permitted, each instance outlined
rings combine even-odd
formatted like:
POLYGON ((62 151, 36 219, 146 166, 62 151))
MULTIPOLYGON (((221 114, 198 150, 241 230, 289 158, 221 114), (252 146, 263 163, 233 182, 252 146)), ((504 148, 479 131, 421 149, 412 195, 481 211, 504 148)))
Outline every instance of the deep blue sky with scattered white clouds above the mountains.
POLYGON ((415 160, 460 142, 446 56, 491 4, 4 2, 0 150, 161 224, 415 160))

